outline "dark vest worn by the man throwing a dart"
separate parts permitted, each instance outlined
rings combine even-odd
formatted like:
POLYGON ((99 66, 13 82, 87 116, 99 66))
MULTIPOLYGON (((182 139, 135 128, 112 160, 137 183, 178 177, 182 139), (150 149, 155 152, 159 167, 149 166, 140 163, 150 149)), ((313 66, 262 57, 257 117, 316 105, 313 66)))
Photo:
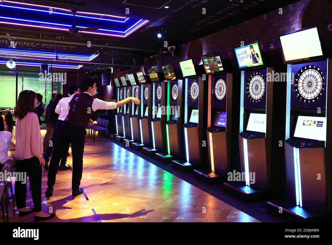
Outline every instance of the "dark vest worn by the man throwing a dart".
POLYGON ((64 121, 86 128, 93 114, 93 100, 88 93, 75 94, 69 102, 68 116, 64 121))

